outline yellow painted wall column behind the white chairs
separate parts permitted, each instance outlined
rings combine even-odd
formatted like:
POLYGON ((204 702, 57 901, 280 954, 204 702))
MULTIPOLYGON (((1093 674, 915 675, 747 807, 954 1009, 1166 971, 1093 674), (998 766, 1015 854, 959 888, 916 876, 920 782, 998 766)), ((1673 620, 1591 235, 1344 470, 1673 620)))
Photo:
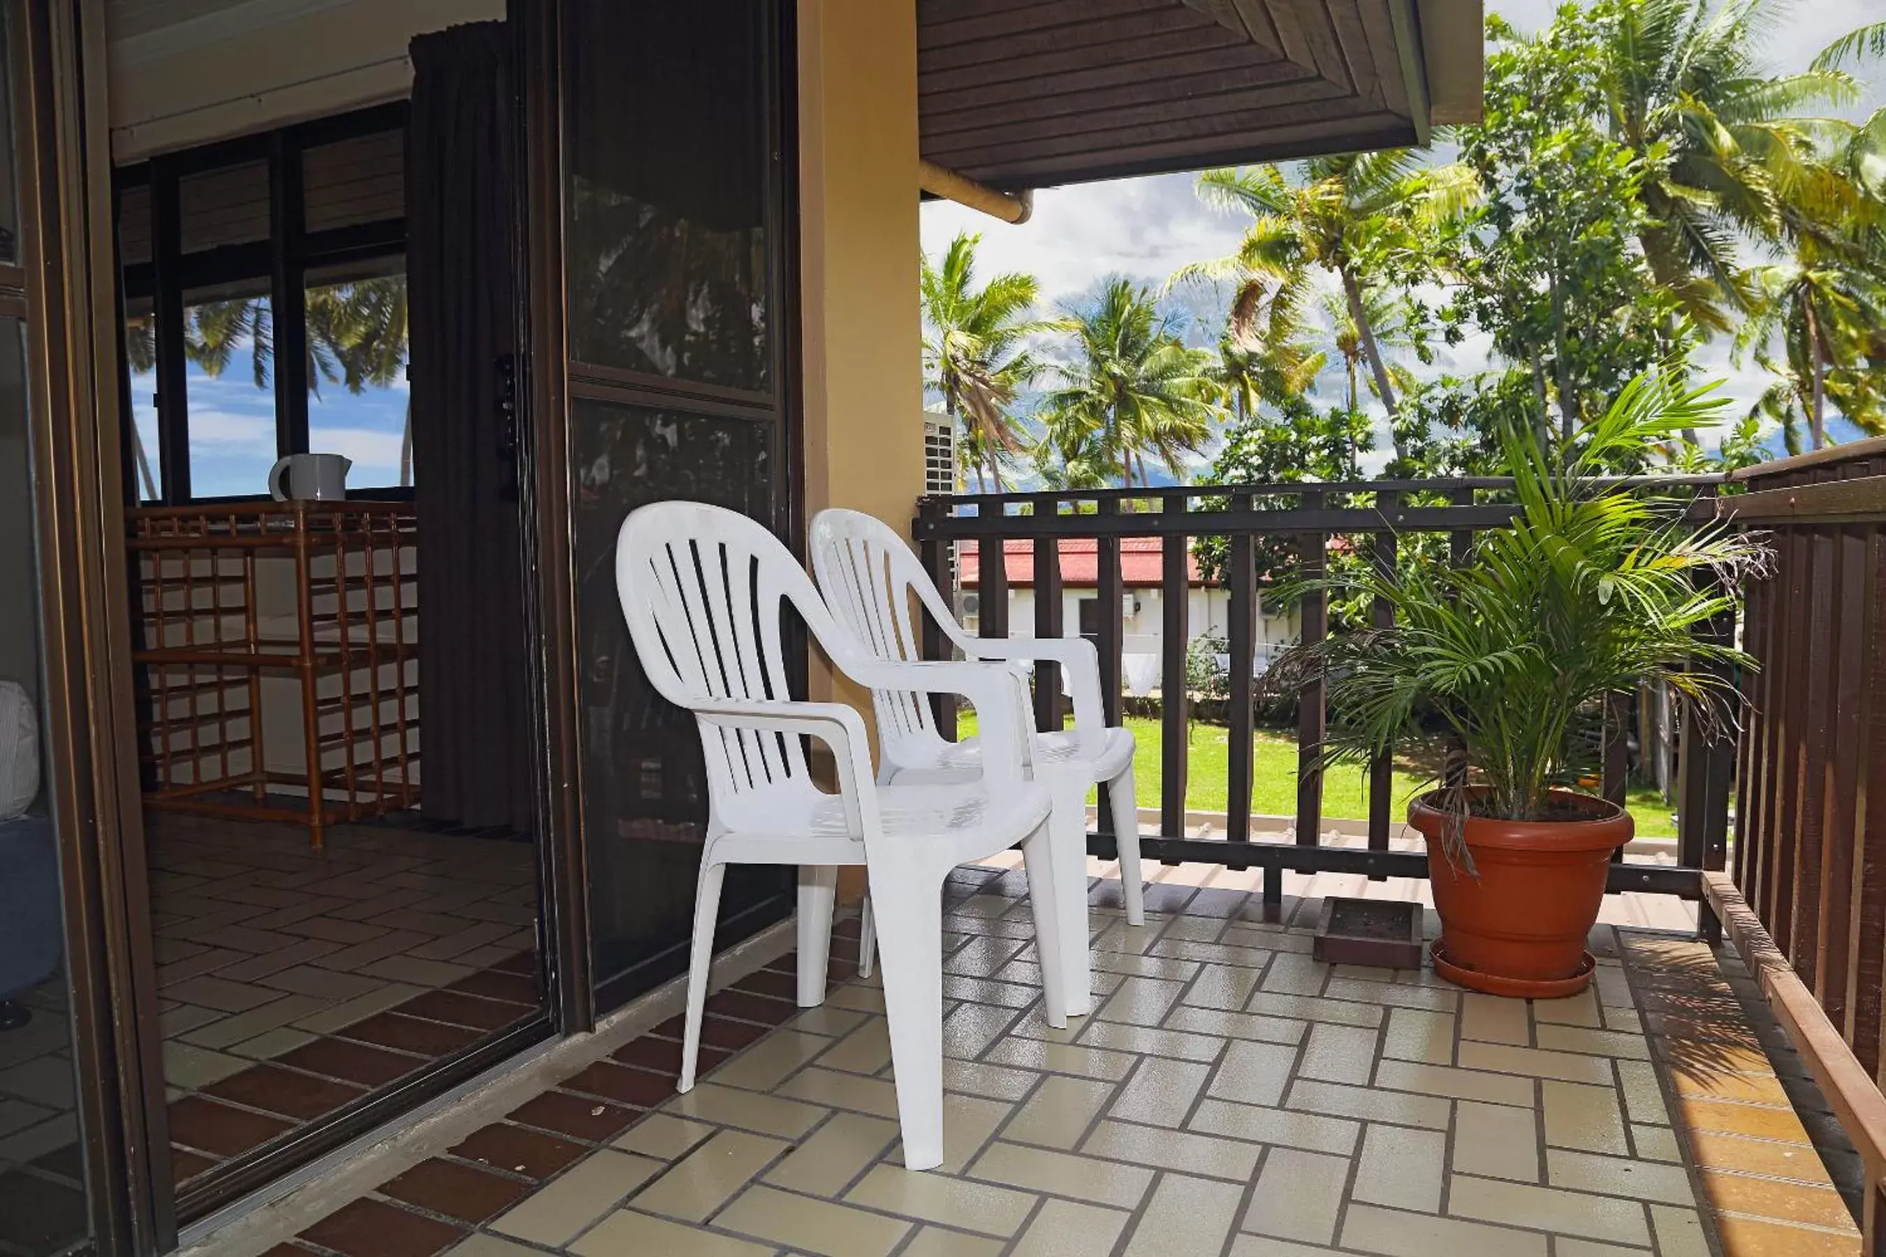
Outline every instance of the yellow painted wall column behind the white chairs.
MULTIPOLYGON (((798 19, 805 520, 851 507, 907 535, 924 486, 917 0, 800 0, 798 19)), ((811 690, 834 697, 817 652, 811 690)), ((837 697, 869 712, 849 684, 837 697)))

